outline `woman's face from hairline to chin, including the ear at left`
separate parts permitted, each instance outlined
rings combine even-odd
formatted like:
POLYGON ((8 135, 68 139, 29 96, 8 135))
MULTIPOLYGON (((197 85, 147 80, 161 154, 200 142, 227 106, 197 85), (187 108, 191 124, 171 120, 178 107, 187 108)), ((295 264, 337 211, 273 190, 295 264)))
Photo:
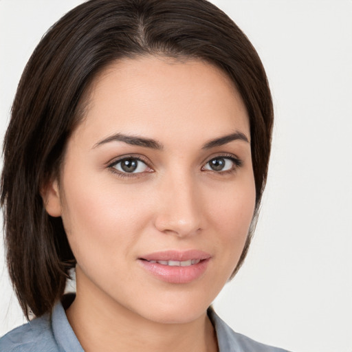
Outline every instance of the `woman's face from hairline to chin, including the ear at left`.
POLYGON ((241 97, 201 61, 110 65, 46 198, 77 260, 78 298, 155 322, 199 318, 239 261, 254 212, 241 97))

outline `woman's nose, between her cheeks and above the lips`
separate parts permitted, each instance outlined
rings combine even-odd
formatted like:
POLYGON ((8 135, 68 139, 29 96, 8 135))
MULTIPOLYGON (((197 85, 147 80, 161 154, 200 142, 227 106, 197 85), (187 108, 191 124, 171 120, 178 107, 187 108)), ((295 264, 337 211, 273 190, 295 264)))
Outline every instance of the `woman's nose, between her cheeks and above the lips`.
POLYGON ((204 227, 201 192, 192 177, 174 175, 159 185, 155 227, 165 234, 193 236, 204 227))

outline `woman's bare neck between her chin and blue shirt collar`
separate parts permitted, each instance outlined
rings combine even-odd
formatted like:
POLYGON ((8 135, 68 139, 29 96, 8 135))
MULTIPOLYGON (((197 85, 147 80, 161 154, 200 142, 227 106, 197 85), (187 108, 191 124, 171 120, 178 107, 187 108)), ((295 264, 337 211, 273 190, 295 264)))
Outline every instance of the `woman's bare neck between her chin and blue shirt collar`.
POLYGON ((86 352, 215 352, 217 340, 206 311, 182 323, 153 322, 94 289, 80 289, 66 311, 86 352))

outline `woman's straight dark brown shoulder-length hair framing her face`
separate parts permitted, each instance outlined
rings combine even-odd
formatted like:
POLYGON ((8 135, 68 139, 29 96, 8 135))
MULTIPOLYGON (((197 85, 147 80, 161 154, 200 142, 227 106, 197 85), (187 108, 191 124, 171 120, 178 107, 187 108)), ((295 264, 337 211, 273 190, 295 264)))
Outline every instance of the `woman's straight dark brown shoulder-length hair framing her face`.
MULTIPOLYGON (((255 224, 267 177, 273 109, 263 65, 247 37, 206 0, 87 1, 52 26, 34 50, 3 144, 7 263, 27 317, 52 310, 76 263, 61 218, 45 212, 40 190, 58 177, 67 139, 84 117, 83 94, 112 61, 155 54, 212 63, 239 90, 250 117, 255 224)), ((251 237, 252 230, 236 270, 251 237)))

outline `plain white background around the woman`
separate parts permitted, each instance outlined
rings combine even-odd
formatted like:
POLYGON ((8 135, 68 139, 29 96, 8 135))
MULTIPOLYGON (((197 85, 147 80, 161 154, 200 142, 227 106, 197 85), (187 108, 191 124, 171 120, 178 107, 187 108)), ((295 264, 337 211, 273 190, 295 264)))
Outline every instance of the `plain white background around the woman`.
MULTIPOLYGON (((0 135, 25 63, 79 0, 0 0, 0 135)), ((352 352, 352 1, 218 0, 270 79, 276 122, 261 218, 214 306, 296 352, 352 352)), ((0 336, 24 320, 0 252, 0 336)))

